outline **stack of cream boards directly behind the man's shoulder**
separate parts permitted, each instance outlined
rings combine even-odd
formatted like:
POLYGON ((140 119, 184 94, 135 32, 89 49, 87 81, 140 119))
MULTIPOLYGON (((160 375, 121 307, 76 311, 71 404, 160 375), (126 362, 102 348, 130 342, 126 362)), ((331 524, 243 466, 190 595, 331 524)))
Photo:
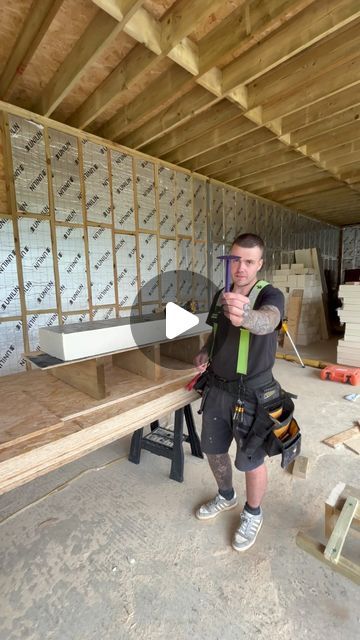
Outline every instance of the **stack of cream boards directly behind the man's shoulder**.
POLYGON ((291 336, 296 344, 306 346, 321 340, 322 288, 314 269, 303 264, 282 264, 281 269, 274 272, 272 284, 284 294, 285 315, 288 314, 287 307, 292 291, 302 289, 304 292, 297 336, 291 336))

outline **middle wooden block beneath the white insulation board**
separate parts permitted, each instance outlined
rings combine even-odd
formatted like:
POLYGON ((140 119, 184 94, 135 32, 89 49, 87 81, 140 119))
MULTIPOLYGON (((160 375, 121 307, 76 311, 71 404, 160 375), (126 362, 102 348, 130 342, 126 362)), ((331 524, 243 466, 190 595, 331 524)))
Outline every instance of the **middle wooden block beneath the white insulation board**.
POLYGON ((161 376, 160 345, 151 345, 142 349, 116 353, 112 356, 113 365, 144 376, 149 380, 159 380, 161 376))

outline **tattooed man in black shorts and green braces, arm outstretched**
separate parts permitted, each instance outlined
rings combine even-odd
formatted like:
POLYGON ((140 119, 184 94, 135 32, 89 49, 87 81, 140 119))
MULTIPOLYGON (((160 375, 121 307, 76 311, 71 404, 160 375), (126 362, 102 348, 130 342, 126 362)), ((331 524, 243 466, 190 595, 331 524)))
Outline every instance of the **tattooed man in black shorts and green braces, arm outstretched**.
POLYGON ((232 542, 236 551, 246 551, 256 540, 267 487, 264 448, 248 455, 244 443, 256 417, 259 392, 268 397, 279 389, 272 368, 284 296, 279 289, 258 281, 263 252, 264 243, 255 234, 245 233, 234 240, 230 251, 233 285, 230 292, 215 296, 207 320, 213 331, 195 358, 200 370, 210 361, 201 444, 218 485, 215 498, 203 504, 196 517, 214 518, 238 503, 228 453, 235 438, 235 467, 245 473, 246 483, 246 503, 232 542))

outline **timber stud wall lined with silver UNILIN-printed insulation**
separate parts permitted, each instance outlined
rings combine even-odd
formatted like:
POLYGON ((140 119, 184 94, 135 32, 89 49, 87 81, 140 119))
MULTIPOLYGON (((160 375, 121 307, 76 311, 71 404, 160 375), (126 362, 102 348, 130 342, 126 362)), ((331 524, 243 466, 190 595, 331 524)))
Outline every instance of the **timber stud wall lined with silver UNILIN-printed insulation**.
POLYGON ((243 231, 264 237, 267 278, 295 249, 318 246, 336 281, 339 228, 0 106, 0 374, 26 368, 22 353, 38 349, 42 325, 129 315, 134 300, 139 314, 194 296, 207 308, 196 275, 221 286, 216 256, 243 231), (164 274, 173 270, 177 293, 168 296, 164 274), (190 287, 179 281, 185 272, 190 287), (139 284, 150 280, 141 299, 139 284))

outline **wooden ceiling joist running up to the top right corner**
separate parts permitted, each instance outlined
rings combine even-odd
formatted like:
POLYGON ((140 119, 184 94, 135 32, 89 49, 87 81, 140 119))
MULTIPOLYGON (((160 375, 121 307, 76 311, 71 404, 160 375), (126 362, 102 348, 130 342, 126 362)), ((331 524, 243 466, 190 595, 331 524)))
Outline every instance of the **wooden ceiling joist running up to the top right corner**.
POLYGON ((311 3, 296 18, 288 20, 275 33, 223 69, 224 92, 255 80, 359 16, 357 0, 320 0, 311 3))

